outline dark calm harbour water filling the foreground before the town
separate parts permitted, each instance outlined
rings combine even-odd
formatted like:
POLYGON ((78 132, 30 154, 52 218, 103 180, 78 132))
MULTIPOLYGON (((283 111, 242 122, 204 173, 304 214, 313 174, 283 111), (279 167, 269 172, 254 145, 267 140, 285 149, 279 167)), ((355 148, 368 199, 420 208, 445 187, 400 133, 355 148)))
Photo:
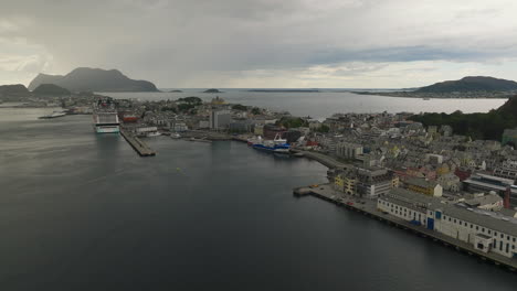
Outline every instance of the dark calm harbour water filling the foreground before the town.
MULTIPOLYGON (((292 188, 326 168, 0 109, 0 290, 515 290, 517 277, 292 188), (9 116, 17 116, 15 120, 9 116)), ((40 109, 35 109, 40 110, 40 109)))

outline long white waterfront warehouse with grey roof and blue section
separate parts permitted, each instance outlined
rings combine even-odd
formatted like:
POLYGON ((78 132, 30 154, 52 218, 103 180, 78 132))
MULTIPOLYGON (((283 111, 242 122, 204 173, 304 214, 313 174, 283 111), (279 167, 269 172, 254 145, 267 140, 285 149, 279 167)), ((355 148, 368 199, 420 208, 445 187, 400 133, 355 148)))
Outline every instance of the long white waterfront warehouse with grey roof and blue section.
POLYGON ((517 257, 517 219, 499 213, 442 203, 437 197, 393 188, 378 198, 386 214, 472 245, 483 252, 517 257))

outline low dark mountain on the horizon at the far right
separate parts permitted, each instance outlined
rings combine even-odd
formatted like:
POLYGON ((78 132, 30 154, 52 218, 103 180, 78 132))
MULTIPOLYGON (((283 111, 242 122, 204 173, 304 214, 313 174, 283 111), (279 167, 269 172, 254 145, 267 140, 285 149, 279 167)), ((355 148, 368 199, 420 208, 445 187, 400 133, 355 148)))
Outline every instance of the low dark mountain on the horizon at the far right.
POLYGON ((517 90, 517 82, 493 77, 464 77, 422 87, 416 93, 505 91, 517 90))

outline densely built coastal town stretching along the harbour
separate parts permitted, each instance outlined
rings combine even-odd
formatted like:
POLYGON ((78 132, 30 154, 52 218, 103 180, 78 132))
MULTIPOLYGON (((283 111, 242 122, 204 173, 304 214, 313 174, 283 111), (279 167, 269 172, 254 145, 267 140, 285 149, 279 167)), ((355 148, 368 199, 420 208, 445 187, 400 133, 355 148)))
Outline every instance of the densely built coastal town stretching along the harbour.
POLYGON ((451 126, 412 121, 411 112, 335 114, 318 120, 229 104, 215 94, 207 101, 194 96, 149 101, 80 93, 35 96, 18 106, 93 114, 104 127, 97 132, 119 127, 143 157, 156 154, 147 139, 159 136, 171 142, 235 140, 275 155, 306 157, 329 169, 328 183, 302 186, 295 194, 370 209, 511 270, 517 266, 516 129, 506 129, 502 140, 472 140, 451 126))

